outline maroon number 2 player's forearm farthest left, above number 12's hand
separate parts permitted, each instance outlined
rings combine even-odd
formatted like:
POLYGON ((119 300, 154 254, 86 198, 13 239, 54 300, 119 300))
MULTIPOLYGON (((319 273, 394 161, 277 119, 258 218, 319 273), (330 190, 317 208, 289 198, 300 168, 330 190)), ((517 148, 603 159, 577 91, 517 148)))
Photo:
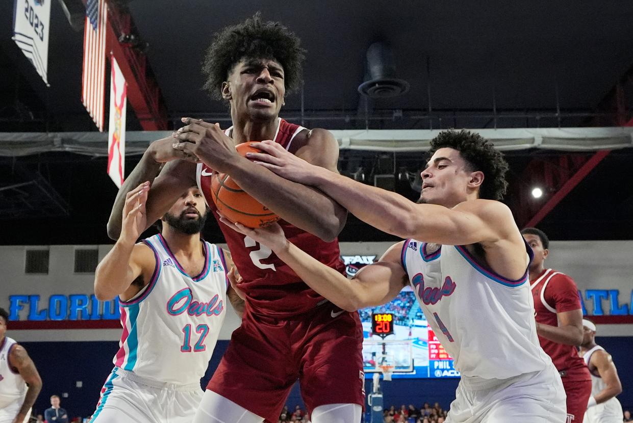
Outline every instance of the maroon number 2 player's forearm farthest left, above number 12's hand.
POLYGON ((122 225, 122 211, 123 205, 125 205, 125 195, 133 190, 138 185, 141 185, 144 181, 152 183, 156 176, 160 173, 161 163, 156 162, 153 159, 152 153, 149 149, 141 157, 141 161, 134 168, 132 173, 127 177, 118 193, 116 194, 115 204, 110 212, 110 219, 108 219, 108 236, 113 240, 118 240, 121 235, 122 225))

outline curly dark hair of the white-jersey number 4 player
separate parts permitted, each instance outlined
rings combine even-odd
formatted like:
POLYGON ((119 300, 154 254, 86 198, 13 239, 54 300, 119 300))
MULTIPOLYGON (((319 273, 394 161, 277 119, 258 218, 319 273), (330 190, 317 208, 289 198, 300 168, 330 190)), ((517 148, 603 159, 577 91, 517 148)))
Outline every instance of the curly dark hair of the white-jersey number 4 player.
POLYGON ((482 171, 484 182, 479 188, 479 198, 501 200, 508 189, 505 175, 508 162, 494 145, 476 132, 446 130, 431 140, 429 155, 449 147, 458 150, 461 158, 468 162, 471 171, 482 171))

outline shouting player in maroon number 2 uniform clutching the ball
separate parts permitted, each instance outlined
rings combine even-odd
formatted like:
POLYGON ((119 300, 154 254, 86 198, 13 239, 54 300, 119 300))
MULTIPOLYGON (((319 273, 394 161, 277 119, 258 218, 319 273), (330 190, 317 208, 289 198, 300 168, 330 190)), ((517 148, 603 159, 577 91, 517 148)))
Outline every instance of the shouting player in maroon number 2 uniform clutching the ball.
MULTIPOLYGON (((148 224, 173 204, 174 193, 196 180, 218 218, 209 189, 213 169, 229 174, 279 214, 293 243, 344 274, 336 236, 346 210, 318 190, 285 180, 235 151, 235 145, 249 140, 274 140, 336 171, 338 145, 331 133, 279 118, 286 91, 300 82, 302 60, 299 39, 258 15, 215 34, 204 62, 206 87, 229 103, 233 126, 222 131, 184 118, 186 126, 173 137, 153 142, 118 193, 108 235, 118 236, 125 194, 146 180, 153 182, 148 224)), ((311 290, 269 248, 223 223, 220 228, 244 279, 246 310, 194 421, 276 421, 299 379, 311 421, 360 422, 365 380, 358 313, 339 309, 311 290)))

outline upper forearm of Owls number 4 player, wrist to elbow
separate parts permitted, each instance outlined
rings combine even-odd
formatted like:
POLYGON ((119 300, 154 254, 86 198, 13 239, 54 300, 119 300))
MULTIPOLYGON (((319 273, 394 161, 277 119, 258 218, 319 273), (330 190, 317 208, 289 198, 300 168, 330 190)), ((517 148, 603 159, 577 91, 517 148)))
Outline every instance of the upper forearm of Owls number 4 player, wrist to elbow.
POLYGON ((413 213, 415 203, 402 195, 320 170, 315 175, 315 187, 363 222, 402 238, 413 236, 406 225, 412 217, 417 218, 413 213))

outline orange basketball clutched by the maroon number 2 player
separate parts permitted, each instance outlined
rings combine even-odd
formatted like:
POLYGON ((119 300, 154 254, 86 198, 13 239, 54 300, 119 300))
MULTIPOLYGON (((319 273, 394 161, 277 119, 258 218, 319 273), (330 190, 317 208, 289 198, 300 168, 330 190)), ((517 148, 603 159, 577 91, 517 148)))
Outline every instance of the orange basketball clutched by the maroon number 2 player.
MULTIPOLYGON (((248 152, 261 152, 251 147, 249 142, 235 146, 237 152, 246 157, 248 152)), ((265 205, 244 192, 242 188, 225 173, 213 173, 211 193, 218 211, 228 219, 248 228, 261 228, 279 220, 279 216, 268 210, 265 205)))

